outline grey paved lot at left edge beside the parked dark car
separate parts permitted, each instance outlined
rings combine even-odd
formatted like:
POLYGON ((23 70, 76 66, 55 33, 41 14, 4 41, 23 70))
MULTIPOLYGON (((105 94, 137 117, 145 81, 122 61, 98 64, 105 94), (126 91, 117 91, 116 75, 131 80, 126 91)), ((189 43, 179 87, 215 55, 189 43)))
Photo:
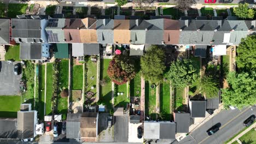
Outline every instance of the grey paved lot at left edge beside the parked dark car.
POLYGON ((0 61, 0 95, 20 95, 22 74, 14 75, 13 68, 18 62, 0 61))

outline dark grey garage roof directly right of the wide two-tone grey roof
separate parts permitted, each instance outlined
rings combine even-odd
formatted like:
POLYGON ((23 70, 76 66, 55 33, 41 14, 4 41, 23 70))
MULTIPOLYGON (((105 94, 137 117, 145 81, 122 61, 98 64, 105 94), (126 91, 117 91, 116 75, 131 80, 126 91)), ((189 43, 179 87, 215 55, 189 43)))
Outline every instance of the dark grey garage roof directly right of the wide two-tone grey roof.
POLYGON ((190 114, 185 112, 174 112, 174 122, 176 122, 177 133, 188 133, 190 114))

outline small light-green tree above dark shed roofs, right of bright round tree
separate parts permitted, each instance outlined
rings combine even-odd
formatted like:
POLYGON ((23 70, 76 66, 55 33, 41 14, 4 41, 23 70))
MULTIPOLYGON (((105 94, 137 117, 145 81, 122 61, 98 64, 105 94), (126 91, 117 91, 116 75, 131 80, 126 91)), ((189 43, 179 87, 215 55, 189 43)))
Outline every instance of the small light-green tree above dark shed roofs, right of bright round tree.
POLYGON ((203 76, 198 87, 202 93, 206 94, 207 98, 218 96, 218 83, 212 79, 212 76, 203 76))

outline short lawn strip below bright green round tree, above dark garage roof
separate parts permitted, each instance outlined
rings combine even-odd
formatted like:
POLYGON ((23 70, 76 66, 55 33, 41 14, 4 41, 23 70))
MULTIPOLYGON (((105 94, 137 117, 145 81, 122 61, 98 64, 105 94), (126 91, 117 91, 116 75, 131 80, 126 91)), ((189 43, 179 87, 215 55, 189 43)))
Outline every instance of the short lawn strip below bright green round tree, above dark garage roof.
POLYGON ((182 110, 184 88, 174 88, 174 110, 182 110))

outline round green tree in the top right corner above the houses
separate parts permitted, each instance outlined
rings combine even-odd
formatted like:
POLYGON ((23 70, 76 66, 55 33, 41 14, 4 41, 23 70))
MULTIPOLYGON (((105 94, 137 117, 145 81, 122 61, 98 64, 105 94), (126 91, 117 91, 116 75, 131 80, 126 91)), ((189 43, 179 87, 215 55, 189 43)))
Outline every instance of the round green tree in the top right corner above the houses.
POLYGON ((253 19, 255 11, 248 6, 248 3, 240 3, 238 7, 234 8, 235 15, 241 19, 253 19))

